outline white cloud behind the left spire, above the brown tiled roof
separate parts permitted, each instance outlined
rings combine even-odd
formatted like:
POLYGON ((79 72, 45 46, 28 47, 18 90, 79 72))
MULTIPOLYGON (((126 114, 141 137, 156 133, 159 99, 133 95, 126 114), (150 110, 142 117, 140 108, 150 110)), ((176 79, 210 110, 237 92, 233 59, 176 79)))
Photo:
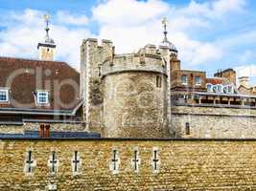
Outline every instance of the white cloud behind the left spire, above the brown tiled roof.
MULTIPOLYGON (((10 12, 10 24, 7 24, 5 31, 0 32, 0 55, 37 58, 36 45, 45 36, 43 14, 43 11, 35 10, 10 12)), ((81 41, 92 36, 91 32, 86 28, 69 29, 61 23, 53 24, 50 25, 50 36, 57 43, 57 59, 80 69, 81 41)))

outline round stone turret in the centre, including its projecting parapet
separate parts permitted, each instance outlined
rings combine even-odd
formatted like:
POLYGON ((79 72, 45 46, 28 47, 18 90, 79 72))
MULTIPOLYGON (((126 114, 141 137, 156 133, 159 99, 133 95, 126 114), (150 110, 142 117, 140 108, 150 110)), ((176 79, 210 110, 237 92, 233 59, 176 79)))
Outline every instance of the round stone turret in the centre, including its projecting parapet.
POLYGON ((109 57, 102 75, 107 137, 168 137, 166 63, 155 46, 109 57))

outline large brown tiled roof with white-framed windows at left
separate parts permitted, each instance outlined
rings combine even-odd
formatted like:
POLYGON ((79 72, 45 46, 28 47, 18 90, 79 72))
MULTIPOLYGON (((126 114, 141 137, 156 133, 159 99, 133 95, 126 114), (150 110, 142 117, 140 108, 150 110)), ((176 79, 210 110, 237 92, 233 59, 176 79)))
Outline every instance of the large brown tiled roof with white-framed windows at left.
POLYGON ((72 110, 80 102, 80 74, 65 62, 0 57, 0 87, 10 102, 0 107, 72 110), (35 92, 49 91, 49 105, 36 106, 35 92))

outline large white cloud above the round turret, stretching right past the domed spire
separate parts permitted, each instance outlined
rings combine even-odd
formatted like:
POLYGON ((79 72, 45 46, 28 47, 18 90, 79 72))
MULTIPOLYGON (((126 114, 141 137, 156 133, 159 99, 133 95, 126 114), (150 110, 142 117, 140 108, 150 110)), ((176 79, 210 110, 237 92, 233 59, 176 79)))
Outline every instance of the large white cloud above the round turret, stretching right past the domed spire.
MULTIPOLYGON (((229 0, 227 0, 229 1, 229 0)), ((162 40, 161 19, 168 16, 169 39, 187 65, 207 64, 221 59, 216 42, 198 41, 189 32, 209 28, 211 20, 229 12, 241 11, 244 0, 234 0, 227 7, 223 0, 171 7, 163 1, 109 0, 93 8, 93 19, 100 23, 101 38, 113 40, 117 53, 138 50, 147 43, 162 40)))

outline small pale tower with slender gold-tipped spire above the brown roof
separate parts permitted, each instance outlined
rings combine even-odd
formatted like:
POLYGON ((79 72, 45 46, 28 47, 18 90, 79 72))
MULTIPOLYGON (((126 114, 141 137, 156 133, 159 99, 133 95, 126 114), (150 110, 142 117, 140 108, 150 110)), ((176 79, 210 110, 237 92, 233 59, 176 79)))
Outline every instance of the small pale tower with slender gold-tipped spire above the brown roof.
POLYGON ((41 60, 55 60, 56 57, 56 44, 55 41, 49 36, 49 19, 48 14, 44 15, 46 22, 46 36, 42 42, 39 42, 37 45, 39 59, 41 60))

